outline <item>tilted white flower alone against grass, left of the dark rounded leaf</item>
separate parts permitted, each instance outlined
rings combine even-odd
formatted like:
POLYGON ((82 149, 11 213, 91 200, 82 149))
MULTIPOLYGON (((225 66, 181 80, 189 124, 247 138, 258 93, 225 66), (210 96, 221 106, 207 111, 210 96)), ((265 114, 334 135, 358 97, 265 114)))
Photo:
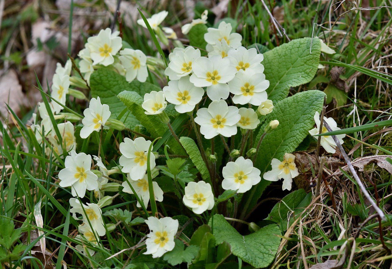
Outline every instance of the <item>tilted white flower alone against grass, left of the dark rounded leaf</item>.
POLYGON ((107 119, 109 119, 111 112, 108 105, 102 105, 99 96, 97 99, 92 98, 89 108, 83 111, 84 118, 82 119, 83 128, 80 130, 80 137, 87 138, 92 132, 101 129, 105 126, 107 119))

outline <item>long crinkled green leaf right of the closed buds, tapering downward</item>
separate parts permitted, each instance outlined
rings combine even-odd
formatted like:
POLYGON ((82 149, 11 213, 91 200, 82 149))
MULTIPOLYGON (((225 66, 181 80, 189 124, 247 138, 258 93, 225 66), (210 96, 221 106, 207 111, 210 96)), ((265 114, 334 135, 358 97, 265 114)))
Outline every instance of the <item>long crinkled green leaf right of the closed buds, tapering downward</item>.
MULTIPOLYGON (((254 166, 261 171, 261 182, 244 194, 240 219, 243 219, 257 204, 261 194, 271 183, 263 179, 263 174, 271 170, 272 159, 283 160, 285 153, 293 152, 309 134, 309 130, 314 126, 314 114, 316 111, 321 111, 323 107, 324 96, 325 94, 319 90, 299 92, 278 102, 274 110, 267 115, 260 130, 264 130, 265 125, 274 119, 279 121, 279 126, 272 133, 267 134, 260 145, 254 166)), ((262 133, 259 132, 255 139, 255 148, 262 133)))

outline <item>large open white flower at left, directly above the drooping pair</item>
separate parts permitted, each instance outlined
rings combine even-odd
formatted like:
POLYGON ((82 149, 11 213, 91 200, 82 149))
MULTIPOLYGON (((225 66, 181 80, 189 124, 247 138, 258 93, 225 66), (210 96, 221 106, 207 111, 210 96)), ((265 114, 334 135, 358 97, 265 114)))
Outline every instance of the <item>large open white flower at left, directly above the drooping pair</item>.
POLYGON ((98 177, 90 171, 91 155, 81 152, 76 154, 71 151, 71 156, 65 157, 65 168, 58 173, 60 186, 65 188, 72 186, 74 197, 84 197, 86 189, 94 190, 98 186, 98 177))

